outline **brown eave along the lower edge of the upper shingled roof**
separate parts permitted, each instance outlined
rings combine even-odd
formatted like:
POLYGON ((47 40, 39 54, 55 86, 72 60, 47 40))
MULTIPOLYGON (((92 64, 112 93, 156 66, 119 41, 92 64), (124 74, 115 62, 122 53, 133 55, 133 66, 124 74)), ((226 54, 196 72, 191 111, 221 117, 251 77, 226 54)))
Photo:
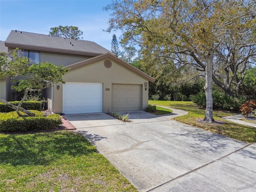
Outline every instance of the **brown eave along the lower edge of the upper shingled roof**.
POLYGON ((38 51, 59 52, 59 53, 86 55, 86 56, 102 55, 100 53, 93 53, 93 52, 84 52, 84 51, 76 51, 76 50, 66 50, 66 49, 58 49, 58 48, 49 48, 49 47, 41 47, 41 46, 15 44, 15 43, 9 43, 9 42, 5 42, 5 46, 12 47, 12 48, 20 48, 20 49, 31 49, 31 50, 38 50, 38 51))

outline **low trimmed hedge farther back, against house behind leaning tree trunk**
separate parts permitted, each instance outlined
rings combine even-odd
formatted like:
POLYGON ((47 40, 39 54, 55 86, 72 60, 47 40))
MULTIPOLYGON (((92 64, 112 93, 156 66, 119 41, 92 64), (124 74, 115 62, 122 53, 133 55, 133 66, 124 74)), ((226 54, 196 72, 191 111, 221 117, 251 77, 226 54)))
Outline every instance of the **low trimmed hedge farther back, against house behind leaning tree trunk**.
MULTIPOLYGON (((18 105, 19 101, 10 101, 10 104, 18 105)), ((42 110, 42 104, 40 101, 24 101, 21 105, 26 110, 42 110)), ((11 111, 15 111, 14 109, 8 107, 5 103, 0 103, 0 112, 1 113, 8 113, 11 111)))

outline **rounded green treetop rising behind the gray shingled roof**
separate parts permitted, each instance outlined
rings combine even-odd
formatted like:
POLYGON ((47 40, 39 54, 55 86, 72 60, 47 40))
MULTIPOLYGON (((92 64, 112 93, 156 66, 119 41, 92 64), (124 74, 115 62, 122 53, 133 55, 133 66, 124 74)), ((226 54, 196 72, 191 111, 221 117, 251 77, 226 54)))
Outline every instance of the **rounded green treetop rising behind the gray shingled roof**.
POLYGON ((57 37, 66 37, 71 39, 82 39, 83 32, 75 26, 58 26, 50 28, 49 34, 57 37))

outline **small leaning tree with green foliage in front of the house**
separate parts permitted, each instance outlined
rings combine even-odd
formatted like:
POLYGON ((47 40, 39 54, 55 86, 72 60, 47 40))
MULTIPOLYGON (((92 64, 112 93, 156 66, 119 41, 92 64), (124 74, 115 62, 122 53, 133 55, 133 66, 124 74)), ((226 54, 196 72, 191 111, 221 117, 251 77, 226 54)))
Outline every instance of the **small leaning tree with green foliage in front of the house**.
POLYGON ((58 67, 48 62, 30 64, 28 58, 23 57, 22 52, 18 49, 10 53, 2 52, 0 54, 0 77, 10 76, 11 80, 15 81, 17 76, 24 76, 19 80, 18 86, 12 86, 13 89, 18 91, 24 90, 24 96, 18 106, 14 106, 3 99, 0 99, 0 102, 4 102, 7 106, 16 110, 19 116, 24 116, 20 114, 20 111, 24 112, 25 116, 35 116, 33 112, 21 107, 27 98, 28 92, 42 91, 42 89, 51 87, 58 82, 65 83, 62 75, 68 70, 68 68, 58 67))

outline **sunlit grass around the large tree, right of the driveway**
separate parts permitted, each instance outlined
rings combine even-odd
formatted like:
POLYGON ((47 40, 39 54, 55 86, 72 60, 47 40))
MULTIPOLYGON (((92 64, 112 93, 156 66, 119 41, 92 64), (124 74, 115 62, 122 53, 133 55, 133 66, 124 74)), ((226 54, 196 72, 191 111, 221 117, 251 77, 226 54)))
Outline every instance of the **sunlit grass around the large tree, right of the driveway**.
POLYGON ((168 106, 172 108, 181 109, 187 111, 188 114, 180 117, 174 118, 178 122, 182 122, 191 126, 209 130, 214 133, 222 134, 234 139, 241 141, 253 143, 256 142, 256 128, 245 126, 241 124, 236 124, 230 122, 222 117, 234 115, 236 113, 224 112, 224 111, 214 111, 213 116, 216 121, 213 124, 204 123, 205 110, 198 108, 193 102, 182 102, 182 101, 149 101, 149 104, 168 106))

